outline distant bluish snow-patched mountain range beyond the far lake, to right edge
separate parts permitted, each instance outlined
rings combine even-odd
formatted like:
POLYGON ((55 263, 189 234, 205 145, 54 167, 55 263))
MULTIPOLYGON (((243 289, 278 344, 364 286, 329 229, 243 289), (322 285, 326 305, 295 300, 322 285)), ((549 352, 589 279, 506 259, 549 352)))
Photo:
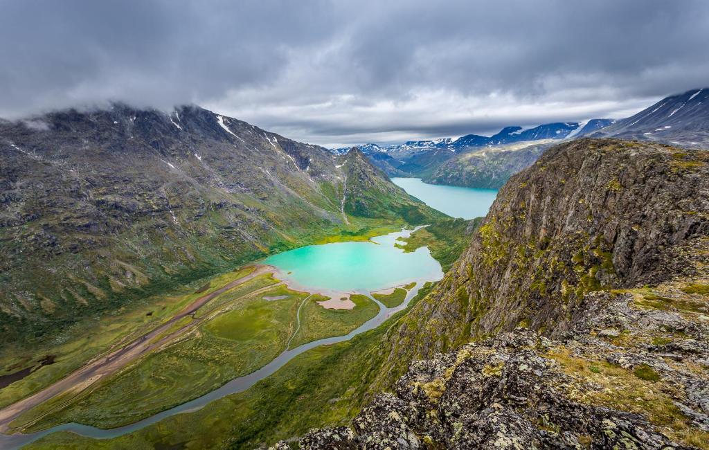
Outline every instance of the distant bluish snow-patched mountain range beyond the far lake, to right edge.
MULTIPOLYGON (((373 164, 389 176, 415 176, 431 184, 499 189, 559 140, 586 136, 648 140, 684 148, 709 145, 709 89, 669 96, 630 118, 503 128, 490 137, 363 145, 373 164)), ((342 149, 331 150, 340 153, 342 149)))

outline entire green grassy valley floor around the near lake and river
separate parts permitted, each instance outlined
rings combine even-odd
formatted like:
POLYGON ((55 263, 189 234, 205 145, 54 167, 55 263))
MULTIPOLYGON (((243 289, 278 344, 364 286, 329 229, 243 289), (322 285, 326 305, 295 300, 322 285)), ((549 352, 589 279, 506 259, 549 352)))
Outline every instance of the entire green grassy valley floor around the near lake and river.
MULTIPOLYGON (((444 223, 438 227, 462 230, 462 225, 457 222, 462 221, 450 220, 450 224, 444 223)), ((400 225, 370 221, 362 226, 359 223, 339 235, 325 237, 321 242, 368 240, 374 235, 396 230, 400 225)), ((467 240, 467 233, 435 235, 429 232, 423 237, 417 236, 418 245, 430 245, 433 256, 437 258, 448 256, 440 251, 445 247, 445 240, 448 240, 449 246, 461 247, 462 240, 467 240)), ((69 345, 72 339, 67 339, 67 344, 57 348, 46 347, 38 354, 52 352, 60 356, 57 357, 59 362, 44 366, 18 383, 13 383, 9 386, 12 389, 0 390, 3 395, 0 398, 9 404, 47 386, 50 380, 61 378, 82 366, 87 359, 105 353, 111 346, 117 347, 118 342, 130 342, 164 323, 195 298, 216 291, 251 270, 244 268, 210 280, 191 283, 191 292, 187 292, 188 288, 185 287, 182 295, 154 298, 152 302, 141 305, 142 308, 108 317, 94 325, 94 328, 85 327, 84 330, 93 333, 86 336, 88 341, 94 335, 99 336, 103 330, 108 332, 103 334, 104 339, 96 339, 92 346, 82 352, 76 350, 79 346, 69 345)), ((379 300, 389 307, 400 304, 403 300, 399 299, 400 291, 403 289, 398 288, 391 294, 379 296, 379 300)), ((418 297, 423 293, 425 290, 418 297)), ((351 300, 355 303, 352 310, 327 310, 317 303, 323 299, 317 295, 311 296, 310 293, 292 291, 271 274, 256 276, 221 293, 193 315, 174 323, 163 335, 183 327, 189 330, 164 345, 160 351, 135 361, 79 395, 62 395, 43 403, 23 414, 12 425, 29 432, 65 422, 102 428, 132 423, 254 371, 283 351, 291 336, 289 348, 323 337, 347 334, 374 317, 378 310, 376 304, 366 296, 352 296, 351 300), (301 304, 301 327, 296 332, 296 313, 301 304)), ((382 326, 349 342, 307 351, 286 364, 274 376, 257 383, 244 393, 229 395, 202 410, 170 417, 124 437, 94 441, 77 439, 74 434, 56 433, 33 445, 39 448, 47 445, 52 448, 123 448, 130 443, 133 448, 152 448, 158 445, 172 446, 178 441, 191 441, 202 447, 211 446, 208 443, 210 441, 231 441, 230 445, 238 448, 242 444, 254 446, 261 440, 272 441, 302 434, 308 427, 346 422, 363 404, 367 386, 372 384, 363 380, 379 373, 380 356, 375 357, 374 354, 381 354, 378 347, 385 329, 386 326, 382 326), (318 385, 314 381, 318 379, 323 380, 322 384, 318 385), (295 395, 295 401, 288 400, 292 395, 295 395), (283 400, 273 400, 281 397, 283 400), (287 410, 291 407, 300 411, 300 415, 289 414, 287 410), (302 413, 303 408, 308 410, 306 415, 302 413), (256 417, 264 417, 266 409, 269 410, 266 416, 269 419, 255 420, 256 417), (173 423, 182 422, 193 415, 190 422, 194 426, 173 423), (298 417, 298 420, 289 419, 288 416, 298 417), (209 426, 204 432, 199 432, 197 428, 205 422, 210 422, 209 426), (235 427, 240 431, 235 432, 235 427), (233 441, 234 436, 239 437, 238 441, 233 441)), ((82 328, 77 327, 77 333, 80 330, 82 328)), ((163 335, 155 339, 160 340, 163 335)), ((37 354, 30 356, 36 357, 37 354)))

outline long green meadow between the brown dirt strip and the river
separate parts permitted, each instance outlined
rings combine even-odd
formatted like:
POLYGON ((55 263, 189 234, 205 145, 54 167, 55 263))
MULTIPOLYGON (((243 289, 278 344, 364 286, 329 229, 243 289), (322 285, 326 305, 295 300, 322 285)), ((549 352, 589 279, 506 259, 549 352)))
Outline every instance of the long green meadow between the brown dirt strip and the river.
POLYGON ((64 422, 102 428, 128 424, 196 398, 274 359, 295 330, 296 310, 308 293, 276 286, 259 290, 257 279, 235 288, 242 297, 198 330, 177 339, 76 398, 58 397, 22 415, 13 426, 61 405, 31 429, 64 422), (244 294, 246 286, 257 293, 244 294), (264 300, 264 296, 288 298, 264 300), (70 401, 69 401, 70 400, 70 401))

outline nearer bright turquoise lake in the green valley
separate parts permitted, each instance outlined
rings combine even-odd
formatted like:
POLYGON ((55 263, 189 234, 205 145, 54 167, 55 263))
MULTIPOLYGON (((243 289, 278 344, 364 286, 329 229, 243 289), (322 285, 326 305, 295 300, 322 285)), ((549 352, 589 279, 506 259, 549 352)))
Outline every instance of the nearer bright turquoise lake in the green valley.
POLYGON ((369 293, 412 281, 440 280, 443 272, 428 248, 405 253, 394 246, 398 237, 407 237, 411 231, 373 237, 376 243, 308 245, 262 262, 277 267, 278 278, 320 291, 369 293))

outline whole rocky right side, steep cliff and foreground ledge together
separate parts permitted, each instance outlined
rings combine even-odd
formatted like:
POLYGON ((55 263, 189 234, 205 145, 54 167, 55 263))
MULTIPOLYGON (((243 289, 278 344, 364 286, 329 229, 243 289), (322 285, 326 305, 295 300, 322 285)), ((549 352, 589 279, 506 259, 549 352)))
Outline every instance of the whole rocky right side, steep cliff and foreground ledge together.
POLYGON ((394 393, 300 448, 707 449, 708 302, 709 152, 559 145, 390 328, 394 393))

